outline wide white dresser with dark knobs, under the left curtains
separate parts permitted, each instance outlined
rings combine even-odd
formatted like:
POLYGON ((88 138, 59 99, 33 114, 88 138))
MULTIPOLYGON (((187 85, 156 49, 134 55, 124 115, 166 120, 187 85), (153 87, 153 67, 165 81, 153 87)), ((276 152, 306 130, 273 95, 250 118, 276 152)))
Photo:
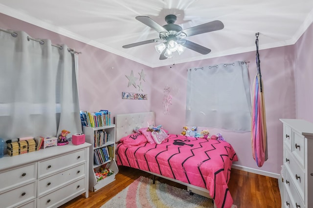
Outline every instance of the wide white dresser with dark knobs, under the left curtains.
POLYGON ((0 207, 56 208, 85 193, 89 143, 53 146, 0 158, 0 207))

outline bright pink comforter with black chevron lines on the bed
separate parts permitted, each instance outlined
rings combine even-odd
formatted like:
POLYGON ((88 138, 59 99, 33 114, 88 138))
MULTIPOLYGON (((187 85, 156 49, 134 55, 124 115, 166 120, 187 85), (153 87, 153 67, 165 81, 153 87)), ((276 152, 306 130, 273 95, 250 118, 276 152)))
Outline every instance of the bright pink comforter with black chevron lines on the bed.
POLYGON ((228 180, 233 161, 232 146, 224 141, 170 134, 161 144, 143 143, 116 148, 117 165, 151 171, 208 189, 218 208, 233 204, 228 180))

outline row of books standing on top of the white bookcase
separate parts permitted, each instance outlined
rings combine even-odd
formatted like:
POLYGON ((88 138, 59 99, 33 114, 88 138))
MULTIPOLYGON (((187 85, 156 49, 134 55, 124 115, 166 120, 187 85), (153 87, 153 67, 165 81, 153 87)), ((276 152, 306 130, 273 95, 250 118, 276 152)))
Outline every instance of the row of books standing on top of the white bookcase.
POLYGON ((111 125, 111 112, 108 110, 100 110, 94 113, 80 111, 80 118, 83 126, 94 128, 111 125))

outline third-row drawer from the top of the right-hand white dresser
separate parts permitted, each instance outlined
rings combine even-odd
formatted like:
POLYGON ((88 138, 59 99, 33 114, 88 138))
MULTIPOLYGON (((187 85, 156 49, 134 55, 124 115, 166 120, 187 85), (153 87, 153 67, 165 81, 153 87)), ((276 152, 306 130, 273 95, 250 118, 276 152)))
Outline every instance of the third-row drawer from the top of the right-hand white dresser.
MULTIPOLYGON (((296 205, 300 205, 300 208, 304 208, 304 203, 303 203, 303 195, 300 196, 299 192, 297 191, 295 184, 293 183, 293 180, 291 178, 291 175, 288 171, 288 169, 285 169, 285 187, 286 189, 290 192, 290 199, 292 202, 293 207, 299 208, 296 205)), ((302 193, 303 194, 303 193, 302 193)))

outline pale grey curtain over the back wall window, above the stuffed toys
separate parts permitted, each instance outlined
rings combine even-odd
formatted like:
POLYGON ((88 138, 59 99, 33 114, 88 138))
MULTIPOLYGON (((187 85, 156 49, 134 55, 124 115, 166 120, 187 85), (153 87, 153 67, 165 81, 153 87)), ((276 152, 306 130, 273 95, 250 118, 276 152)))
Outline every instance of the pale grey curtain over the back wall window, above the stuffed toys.
POLYGON ((245 62, 188 70, 188 126, 251 131, 251 95, 245 62))

